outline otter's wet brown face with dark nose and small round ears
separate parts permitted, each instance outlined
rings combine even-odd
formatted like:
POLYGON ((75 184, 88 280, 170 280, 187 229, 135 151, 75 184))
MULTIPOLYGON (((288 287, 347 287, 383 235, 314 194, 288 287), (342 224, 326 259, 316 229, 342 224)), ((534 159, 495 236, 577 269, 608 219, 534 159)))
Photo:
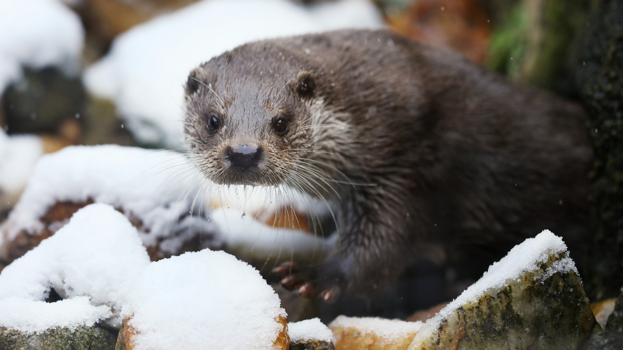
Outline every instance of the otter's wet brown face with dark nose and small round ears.
POLYGON ((230 71, 231 79, 219 80, 211 74, 218 66, 211 70, 210 64, 193 70, 186 83, 184 130, 197 166, 217 184, 288 183, 308 152, 303 125, 315 76, 298 72, 279 79, 230 71), (263 78, 270 83, 258 81, 263 78))

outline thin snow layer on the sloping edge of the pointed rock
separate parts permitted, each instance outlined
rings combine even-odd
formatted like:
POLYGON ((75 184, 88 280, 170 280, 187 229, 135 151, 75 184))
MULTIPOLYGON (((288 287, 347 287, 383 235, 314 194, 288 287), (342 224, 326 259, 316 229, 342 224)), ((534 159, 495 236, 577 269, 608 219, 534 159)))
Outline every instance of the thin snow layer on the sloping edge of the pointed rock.
MULTIPOLYGON (((434 319, 440 320, 449 316, 459 306, 477 301, 487 291, 496 291, 502 288, 508 280, 518 280, 526 271, 539 270, 541 264, 548 260, 549 255, 559 255, 566 251, 567 246, 563 239, 549 230, 544 230, 534 238, 526 239, 523 243, 513 247, 502 260, 493 263, 480 280, 469 286, 452 303, 446 305, 434 319)), ((563 260, 554 263, 545 273, 545 276, 569 271, 578 273, 573 260, 563 258, 563 260)))

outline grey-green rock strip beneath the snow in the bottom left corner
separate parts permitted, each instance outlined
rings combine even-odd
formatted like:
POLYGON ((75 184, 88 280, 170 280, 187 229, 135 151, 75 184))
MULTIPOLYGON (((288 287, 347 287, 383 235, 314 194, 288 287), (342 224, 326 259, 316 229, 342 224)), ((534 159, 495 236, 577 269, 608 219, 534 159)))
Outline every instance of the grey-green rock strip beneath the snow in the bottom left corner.
POLYGON ((33 334, 0 327, 2 350, 110 350, 115 346, 116 339, 117 331, 97 325, 76 329, 53 328, 33 334))

